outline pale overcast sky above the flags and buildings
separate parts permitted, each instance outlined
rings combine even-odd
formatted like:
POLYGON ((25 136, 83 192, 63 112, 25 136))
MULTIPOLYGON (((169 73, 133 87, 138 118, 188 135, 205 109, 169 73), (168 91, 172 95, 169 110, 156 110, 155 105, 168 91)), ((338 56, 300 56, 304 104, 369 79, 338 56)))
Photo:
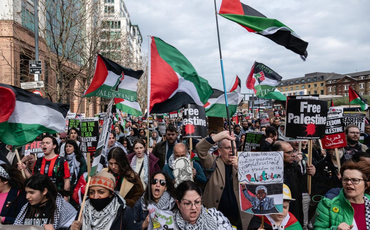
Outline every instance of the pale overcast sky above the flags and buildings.
MULTIPOLYGON (((142 33, 176 47, 213 88, 223 89, 213 0, 125 0, 131 23, 142 33)), ((218 0, 216 0, 218 3, 218 0)), ((292 28, 309 43, 308 57, 249 33, 218 16, 226 88, 238 74, 242 93, 253 62, 262 62, 283 77, 311 72, 347 74, 370 70, 370 1, 368 0, 242 0, 268 18, 292 28)))

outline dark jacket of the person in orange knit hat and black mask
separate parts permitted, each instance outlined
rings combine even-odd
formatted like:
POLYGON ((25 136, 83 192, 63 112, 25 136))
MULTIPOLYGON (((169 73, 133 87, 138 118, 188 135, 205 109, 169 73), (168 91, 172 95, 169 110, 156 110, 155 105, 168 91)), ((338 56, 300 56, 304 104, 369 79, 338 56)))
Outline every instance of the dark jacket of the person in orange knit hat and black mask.
MULTIPOLYGON (((113 220, 110 230, 135 229, 134 214, 132 212, 132 209, 128 206, 123 208, 122 199, 117 194, 114 193, 114 195, 117 197, 118 203, 120 203, 121 205, 120 207, 118 207, 117 216, 113 220)), ((78 209, 75 220, 78 219, 78 215, 80 214, 80 211, 81 211, 81 207, 78 209)))

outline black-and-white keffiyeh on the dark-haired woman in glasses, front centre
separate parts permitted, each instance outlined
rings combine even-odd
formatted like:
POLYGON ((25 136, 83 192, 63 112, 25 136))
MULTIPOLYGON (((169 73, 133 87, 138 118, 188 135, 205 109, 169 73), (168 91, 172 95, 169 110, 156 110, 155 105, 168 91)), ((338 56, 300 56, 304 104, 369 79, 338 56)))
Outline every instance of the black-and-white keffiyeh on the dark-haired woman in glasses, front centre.
MULTIPOLYGON (((227 227, 229 224, 226 224, 225 227, 220 226, 218 220, 219 220, 219 218, 222 217, 221 214, 219 214, 217 211, 214 212, 214 213, 208 212, 210 210, 211 209, 207 210, 204 206, 202 206, 201 214, 199 215, 199 217, 196 220, 194 225, 191 224, 191 223, 186 222, 182 218, 180 211, 176 210, 175 213, 174 213, 175 225, 178 229, 181 229, 181 230, 231 229, 231 228, 227 227), (221 228, 219 228, 219 227, 221 227, 221 228)), ((223 217, 223 218, 226 218, 226 217, 223 217)))

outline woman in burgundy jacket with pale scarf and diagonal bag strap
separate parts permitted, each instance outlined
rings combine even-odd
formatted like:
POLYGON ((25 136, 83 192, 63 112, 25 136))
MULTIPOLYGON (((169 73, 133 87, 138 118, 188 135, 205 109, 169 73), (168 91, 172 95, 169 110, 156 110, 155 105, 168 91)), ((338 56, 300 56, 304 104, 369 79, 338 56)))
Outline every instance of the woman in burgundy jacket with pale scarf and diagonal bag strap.
POLYGON ((148 185, 148 171, 150 175, 154 172, 161 171, 158 166, 159 159, 151 153, 148 155, 147 145, 143 139, 136 139, 134 141, 134 152, 127 155, 127 160, 130 163, 131 168, 140 178, 144 190, 148 185))

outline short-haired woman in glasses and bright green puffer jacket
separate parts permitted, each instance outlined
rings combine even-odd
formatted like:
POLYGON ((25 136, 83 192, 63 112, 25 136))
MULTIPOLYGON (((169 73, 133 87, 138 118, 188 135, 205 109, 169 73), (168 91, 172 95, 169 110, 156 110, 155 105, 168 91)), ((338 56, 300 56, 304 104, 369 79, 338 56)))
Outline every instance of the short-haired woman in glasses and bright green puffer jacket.
POLYGON ((340 168, 343 189, 333 199, 323 197, 314 229, 370 230, 370 164, 345 162, 340 168))

